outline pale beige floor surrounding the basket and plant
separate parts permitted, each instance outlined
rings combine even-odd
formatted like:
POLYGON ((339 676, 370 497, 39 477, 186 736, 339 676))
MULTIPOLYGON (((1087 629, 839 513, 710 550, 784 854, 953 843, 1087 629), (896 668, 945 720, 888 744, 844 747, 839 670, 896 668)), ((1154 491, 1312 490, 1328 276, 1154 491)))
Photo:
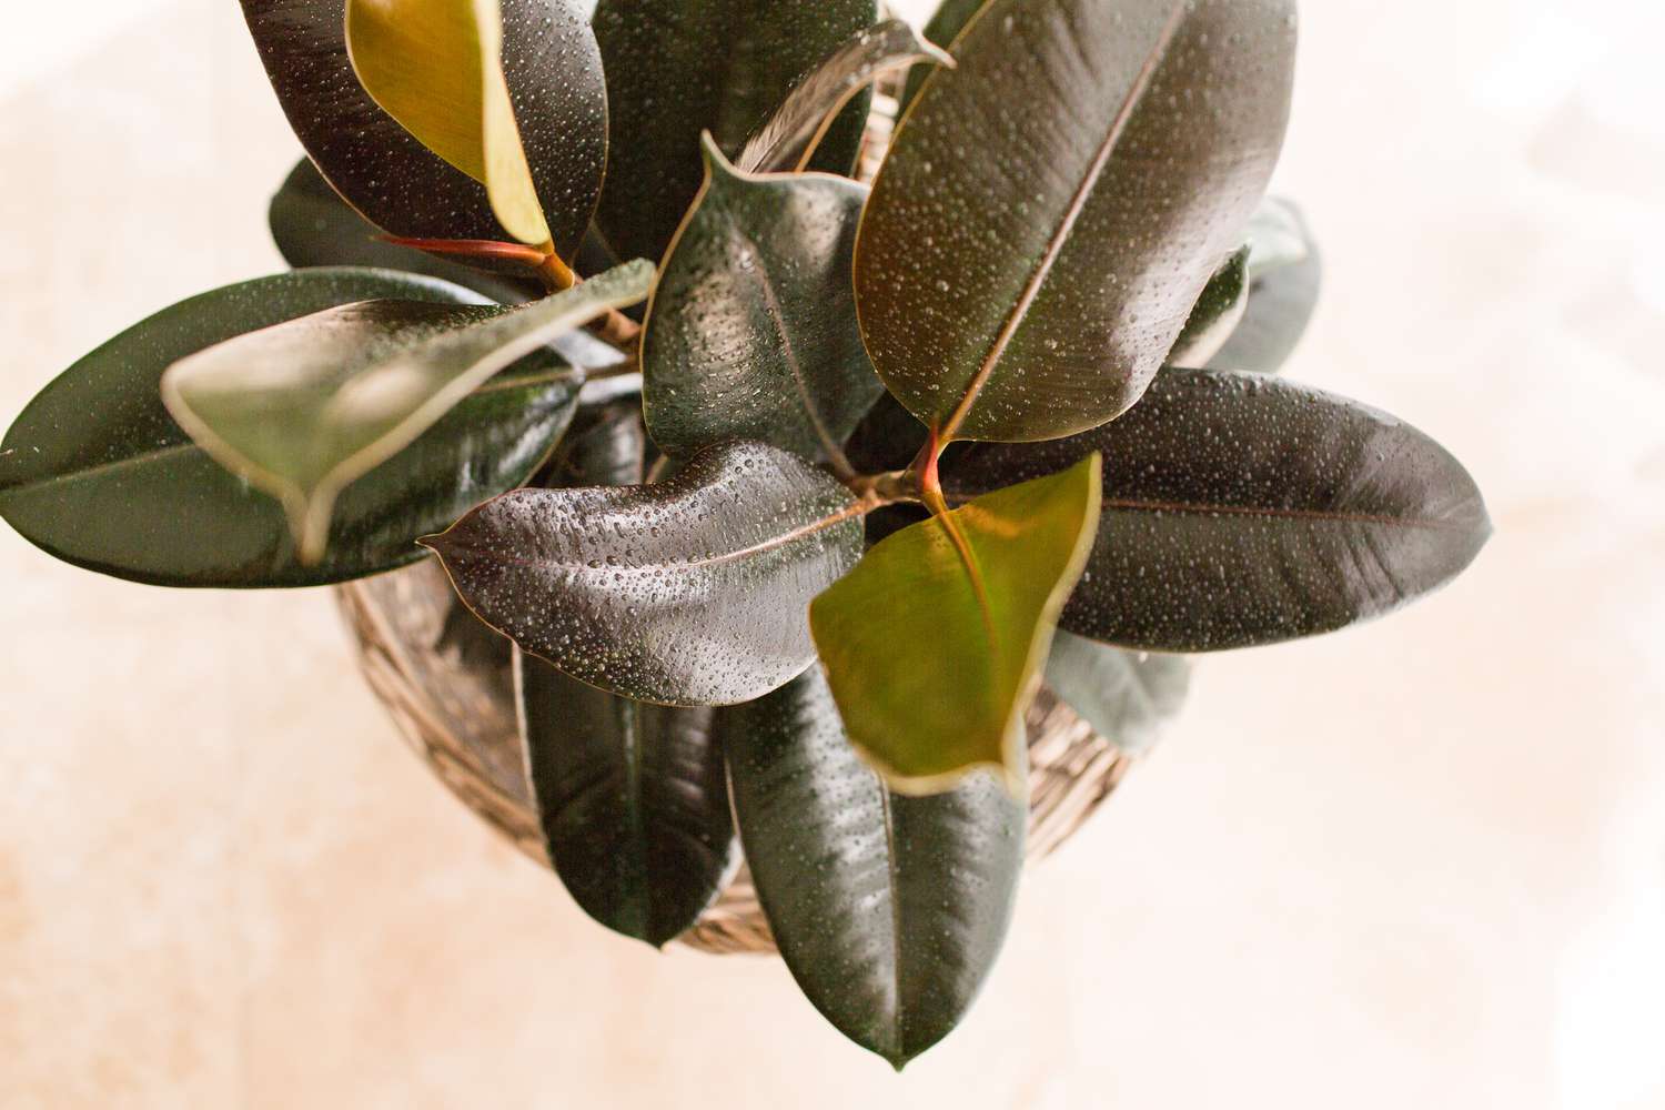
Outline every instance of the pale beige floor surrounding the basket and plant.
MULTIPOLYGON (((0 416, 280 266, 230 0, 0 48, 0 416)), ((0 1105, 1665 1105, 1665 85, 1653 5, 1305 5, 1292 374, 1435 434, 1498 534, 1389 621, 1209 659, 896 1077, 778 962, 656 955, 455 805, 326 592, 0 529, 0 1105)), ((33 32, 38 32, 33 33, 33 32)))

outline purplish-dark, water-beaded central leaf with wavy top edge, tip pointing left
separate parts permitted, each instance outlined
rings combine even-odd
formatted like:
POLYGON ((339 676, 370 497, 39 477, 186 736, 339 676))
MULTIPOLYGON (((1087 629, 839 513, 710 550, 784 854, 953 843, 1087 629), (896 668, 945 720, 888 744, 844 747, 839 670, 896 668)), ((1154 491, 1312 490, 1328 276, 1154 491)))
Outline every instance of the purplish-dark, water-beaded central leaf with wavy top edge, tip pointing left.
POLYGON ((653 486, 519 489, 423 543, 486 624, 568 676, 711 706, 809 666, 804 607, 861 536, 861 506, 824 473, 728 443, 653 486))

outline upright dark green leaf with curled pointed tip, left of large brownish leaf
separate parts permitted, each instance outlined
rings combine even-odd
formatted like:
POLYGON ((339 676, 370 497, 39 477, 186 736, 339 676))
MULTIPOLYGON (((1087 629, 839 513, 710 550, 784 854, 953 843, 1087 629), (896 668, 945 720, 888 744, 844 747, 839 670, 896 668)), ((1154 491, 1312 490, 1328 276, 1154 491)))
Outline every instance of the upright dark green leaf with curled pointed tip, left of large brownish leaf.
POLYGON ((704 145, 706 185, 643 333, 648 431, 673 456, 761 439, 847 471, 839 444, 884 391, 849 286, 867 190, 826 173, 739 173, 709 135, 704 145))

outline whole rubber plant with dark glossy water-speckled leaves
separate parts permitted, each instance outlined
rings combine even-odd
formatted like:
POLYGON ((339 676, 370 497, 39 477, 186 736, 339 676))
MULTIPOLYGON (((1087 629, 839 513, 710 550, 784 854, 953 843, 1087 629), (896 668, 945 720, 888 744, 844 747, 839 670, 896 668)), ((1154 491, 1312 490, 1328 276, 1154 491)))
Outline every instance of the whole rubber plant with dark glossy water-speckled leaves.
POLYGON ((897 1067, 1001 947, 1042 681, 1144 746, 1184 652, 1387 612, 1489 536, 1432 439, 1272 376, 1319 278, 1264 198, 1294 0, 243 10, 296 268, 52 381, 0 513, 163 586, 436 554, 518 646, 584 910, 664 944, 743 850, 897 1067))

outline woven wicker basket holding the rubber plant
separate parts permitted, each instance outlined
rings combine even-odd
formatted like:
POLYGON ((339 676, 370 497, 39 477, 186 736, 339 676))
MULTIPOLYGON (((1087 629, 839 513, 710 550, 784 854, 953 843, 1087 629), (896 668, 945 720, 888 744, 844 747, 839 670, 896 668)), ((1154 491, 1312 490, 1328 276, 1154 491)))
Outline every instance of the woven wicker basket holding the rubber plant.
MULTIPOLYGON (((370 689, 440 780, 548 865, 514 722, 508 641, 461 607, 426 559, 338 587, 370 689)), ((1046 689, 1029 711, 1029 859, 1047 855, 1109 797, 1129 759, 1046 689)), ((744 867, 679 937, 704 952, 773 952, 744 867)))

